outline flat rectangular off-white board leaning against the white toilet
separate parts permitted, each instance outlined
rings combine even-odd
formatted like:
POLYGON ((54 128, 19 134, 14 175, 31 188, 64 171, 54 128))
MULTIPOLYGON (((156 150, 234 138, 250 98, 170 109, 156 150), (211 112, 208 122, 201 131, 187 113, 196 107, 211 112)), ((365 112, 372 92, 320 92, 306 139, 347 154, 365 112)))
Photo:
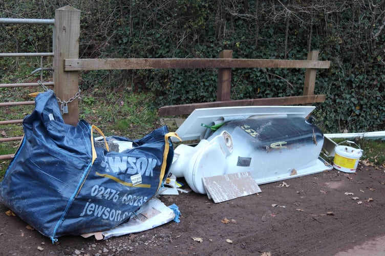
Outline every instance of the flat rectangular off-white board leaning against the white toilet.
POLYGON ((215 203, 261 193, 250 172, 204 177, 202 180, 208 198, 215 203))

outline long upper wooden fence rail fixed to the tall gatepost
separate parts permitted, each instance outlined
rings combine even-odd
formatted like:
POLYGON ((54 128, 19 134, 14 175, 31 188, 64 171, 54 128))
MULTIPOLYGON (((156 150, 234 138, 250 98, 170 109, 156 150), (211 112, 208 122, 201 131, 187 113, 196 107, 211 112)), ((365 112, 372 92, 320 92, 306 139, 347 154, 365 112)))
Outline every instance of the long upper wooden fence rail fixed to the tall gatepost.
POLYGON ((114 69, 312 68, 328 69, 330 61, 287 59, 64 59, 65 71, 114 69))

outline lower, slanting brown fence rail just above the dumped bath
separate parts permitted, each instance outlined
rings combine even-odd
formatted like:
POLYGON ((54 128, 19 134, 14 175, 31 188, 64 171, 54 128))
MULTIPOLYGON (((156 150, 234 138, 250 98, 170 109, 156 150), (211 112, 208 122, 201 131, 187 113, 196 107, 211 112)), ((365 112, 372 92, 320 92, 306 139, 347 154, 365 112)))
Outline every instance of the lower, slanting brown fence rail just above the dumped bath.
POLYGON ((326 95, 310 95, 310 96, 290 96, 264 99, 245 99, 245 100, 229 100, 229 101, 215 101, 192 103, 184 105, 168 105, 162 106, 159 109, 159 116, 174 116, 190 114, 195 109, 203 108, 218 108, 221 106, 273 106, 273 105, 298 105, 314 102, 324 102, 326 95))

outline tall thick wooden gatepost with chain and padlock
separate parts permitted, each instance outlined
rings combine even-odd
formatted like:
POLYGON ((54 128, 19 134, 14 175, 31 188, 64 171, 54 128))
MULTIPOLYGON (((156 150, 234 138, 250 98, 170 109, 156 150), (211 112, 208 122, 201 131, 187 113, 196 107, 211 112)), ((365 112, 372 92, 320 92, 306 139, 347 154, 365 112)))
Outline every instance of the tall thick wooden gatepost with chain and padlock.
MULTIPOLYGON (((65 6, 55 10, 54 25, 54 92, 61 101, 68 101, 79 91, 77 71, 64 71, 64 59, 79 58, 80 11, 65 6)), ((59 106, 61 104, 59 103, 59 106)), ((79 119, 79 101, 68 103, 68 114, 63 114, 67 124, 76 125, 79 119)))

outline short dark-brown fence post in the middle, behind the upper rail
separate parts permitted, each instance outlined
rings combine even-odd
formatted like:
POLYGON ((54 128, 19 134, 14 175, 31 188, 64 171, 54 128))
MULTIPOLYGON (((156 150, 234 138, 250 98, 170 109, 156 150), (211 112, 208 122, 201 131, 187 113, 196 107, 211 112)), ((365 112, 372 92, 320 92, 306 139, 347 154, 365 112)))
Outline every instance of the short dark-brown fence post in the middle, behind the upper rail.
MULTIPOLYGON (((220 59, 231 59, 232 50, 223 50, 219 53, 220 59)), ((217 101, 230 100, 231 69, 218 69, 217 101)))

